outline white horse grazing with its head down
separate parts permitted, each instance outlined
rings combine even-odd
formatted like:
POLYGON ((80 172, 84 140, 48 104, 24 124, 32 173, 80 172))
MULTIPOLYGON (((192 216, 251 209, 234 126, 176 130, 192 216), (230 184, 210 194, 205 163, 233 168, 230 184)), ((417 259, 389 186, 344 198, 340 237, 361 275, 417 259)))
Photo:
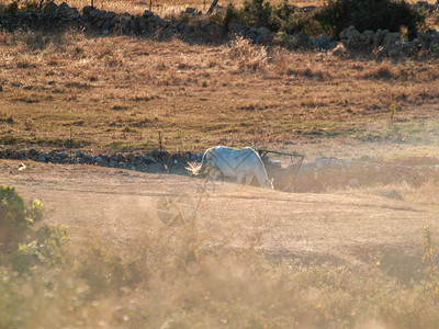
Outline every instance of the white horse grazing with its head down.
POLYGON ((194 174, 202 173, 210 169, 212 178, 213 170, 219 170, 223 177, 236 178, 238 184, 246 178, 246 184, 249 185, 252 178, 259 181, 259 184, 266 189, 273 189, 273 180, 269 180, 266 167, 259 155, 250 147, 235 149, 224 146, 215 146, 207 149, 199 167, 192 166, 190 170, 194 174))

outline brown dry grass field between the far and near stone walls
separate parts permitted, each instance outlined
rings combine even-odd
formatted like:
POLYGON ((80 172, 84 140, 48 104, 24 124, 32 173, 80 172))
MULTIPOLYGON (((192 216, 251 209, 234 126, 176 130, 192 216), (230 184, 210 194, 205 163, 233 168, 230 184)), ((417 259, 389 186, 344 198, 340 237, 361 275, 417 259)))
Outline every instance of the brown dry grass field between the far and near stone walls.
POLYGON ((0 35, 3 145, 93 149, 435 145, 438 59, 339 58, 237 39, 0 35), (390 109, 396 112, 390 124, 390 109))

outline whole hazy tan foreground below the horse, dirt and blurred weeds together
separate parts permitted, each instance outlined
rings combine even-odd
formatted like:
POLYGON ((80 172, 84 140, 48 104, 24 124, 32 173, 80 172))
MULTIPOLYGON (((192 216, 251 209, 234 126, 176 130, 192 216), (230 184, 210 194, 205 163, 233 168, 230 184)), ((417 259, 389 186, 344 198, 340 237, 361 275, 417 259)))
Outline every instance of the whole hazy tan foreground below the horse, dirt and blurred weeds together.
POLYGON ((1 181, 43 201, 45 223, 68 225, 71 241, 64 264, 24 275, 0 266, 2 325, 438 326, 436 249, 426 252, 439 234, 435 185, 289 194, 222 183, 209 186, 194 222, 170 228, 157 218, 157 197, 187 191, 196 200, 201 180, 18 164, 3 160, 1 181), (390 188, 407 201, 379 196, 390 188))

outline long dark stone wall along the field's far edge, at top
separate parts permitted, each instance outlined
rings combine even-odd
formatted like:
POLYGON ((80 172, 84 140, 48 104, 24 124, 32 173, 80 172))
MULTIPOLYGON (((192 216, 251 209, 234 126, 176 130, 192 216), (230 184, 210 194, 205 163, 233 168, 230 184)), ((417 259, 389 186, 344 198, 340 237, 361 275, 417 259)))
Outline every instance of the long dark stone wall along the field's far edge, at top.
MULTIPOLYGON (((430 5, 424 2, 417 5, 427 5, 428 10, 438 10, 439 8, 438 4, 430 5)), ((307 8, 302 8, 306 11, 305 9, 307 8)), ((309 10, 315 9, 313 7, 309 10)), ((184 14, 203 15, 193 8, 187 8, 184 14)), ((59 5, 49 2, 44 7, 42 13, 11 13, 5 10, 3 4, 0 4, 0 30, 7 31, 18 29, 54 31, 75 27, 102 35, 145 35, 159 39, 177 36, 195 43, 217 43, 224 37, 240 35, 255 43, 270 44, 275 37, 275 33, 267 27, 256 29, 239 22, 229 22, 228 34, 225 34, 223 26, 209 20, 200 21, 203 23, 198 25, 184 21, 167 21, 149 10, 145 10, 143 14, 130 14, 86 5, 79 11, 77 8, 70 8, 66 2, 59 5)), ((439 33, 436 30, 419 33, 416 39, 408 42, 403 39, 399 33, 381 30, 360 33, 351 26, 340 33, 340 39, 341 43, 335 42, 326 34, 308 37, 302 32, 291 36, 294 45, 302 48, 333 49, 338 45, 345 45, 348 49, 363 49, 383 56, 413 55, 421 49, 439 55, 439 33)))

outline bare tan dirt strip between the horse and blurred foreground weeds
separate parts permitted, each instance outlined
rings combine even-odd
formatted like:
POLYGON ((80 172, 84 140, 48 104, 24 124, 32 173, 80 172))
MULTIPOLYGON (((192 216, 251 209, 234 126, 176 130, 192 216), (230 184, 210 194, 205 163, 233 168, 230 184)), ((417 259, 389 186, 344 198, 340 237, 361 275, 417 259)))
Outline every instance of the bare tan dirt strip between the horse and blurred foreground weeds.
POLYGON ((194 206, 200 201, 195 220, 206 245, 254 246, 303 263, 379 260, 387 274, 408 280, 421 263, 423 227, 437 235, 434 208, 362 190, 283 193, 226 182, 203 190, 202 179, 188 177, 36 162, 20 171, 19 164, 1 160, 0 181, 26 202, 41 200, 45 220, 67 225, 72 240, 98 236, 122 250, 135 248, 144 229, 178 235, 181 228, 159 220, 157 202, 182 192, 194 206))

